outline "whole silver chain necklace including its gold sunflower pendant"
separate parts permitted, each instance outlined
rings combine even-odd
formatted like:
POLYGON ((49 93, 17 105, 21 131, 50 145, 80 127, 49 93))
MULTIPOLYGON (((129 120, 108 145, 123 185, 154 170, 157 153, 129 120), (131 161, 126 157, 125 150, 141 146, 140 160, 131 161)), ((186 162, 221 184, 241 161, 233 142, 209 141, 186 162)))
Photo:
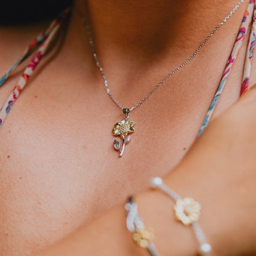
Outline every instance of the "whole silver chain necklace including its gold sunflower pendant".
POLYGON ((185 60, 182 64, 177 66, 174 70, 172 70, 167 76, 165 76, 152 90, 149 94, 147 94, 140 102, 138 102, 136 105, 132 106, 131 108, 122 108, 122 106, 118 103, 118 101, 114 98, 114 96, 111 94, 110 89, 108 88, 108 80, 106 79, 106 75, 103 71, 102 65, 100 65, 100 62, 98 60, 97 52, 94 45, 94 40, 92 39, 92 33, 90 31, 90 26, 86 22, 86 17, 82 14, 81 10, 76 7, 76 10, 78 10, 79 16, 82 18, 82 21, 84 22, 84 25, 86 26, 87 34, 89 37, 89 43, 92 47, 92 52, 94 54, 94 60, 95 63, 100 70, 100 73, 102 74, 102 78, 104 80, 106 93, 110 95, 110 98, 113 100, 113 102, 122 110, 122 113, 124 114, 124 119, 122 119, 120 122, 117 122, 114 124, 114 129, 112 130, 114 136, 121 137, 121 144, 118 142, 118 140, 114 140, 114 148, 119 151, 119 156, 122 156, 124 153, 124 147, 126 143, 130 141, 130 136, 127 136, 131 132, 134 132, 134 121, 128 121, 129 114, 131 111, 135 110, 138 106, 142 105, 143 102, 145 102, 159 87, 166 82, 167 79, 169 79, 174 73, 176 73, 178 70, 183 68, 188 62, 190 62, 202 49, 202 47, 209 41, 209 39, 215 34, 215 32, 236 12, 236 10, 241 6, 241 4, 244 2, 244 0, 241 0, 236 4, 236 6, 231 10, 230 14, 228 14, 225 18, 223 18, 222 22, 218 23, 218 25, 210 32, 210 34, 207 36, 207 38, 200 44, 198 49, 194 51, 194 53, 185 60))

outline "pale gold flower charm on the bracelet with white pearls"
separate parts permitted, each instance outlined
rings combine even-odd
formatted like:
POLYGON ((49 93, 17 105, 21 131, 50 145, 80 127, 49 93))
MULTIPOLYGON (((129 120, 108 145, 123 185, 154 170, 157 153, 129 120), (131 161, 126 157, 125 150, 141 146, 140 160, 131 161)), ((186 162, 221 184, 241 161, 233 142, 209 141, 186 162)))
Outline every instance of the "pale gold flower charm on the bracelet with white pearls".
POLYGON ((193 198, 178 199, 174 206, 175 216, 185 225, 197 222, 200 216, 201 206, 193 198))

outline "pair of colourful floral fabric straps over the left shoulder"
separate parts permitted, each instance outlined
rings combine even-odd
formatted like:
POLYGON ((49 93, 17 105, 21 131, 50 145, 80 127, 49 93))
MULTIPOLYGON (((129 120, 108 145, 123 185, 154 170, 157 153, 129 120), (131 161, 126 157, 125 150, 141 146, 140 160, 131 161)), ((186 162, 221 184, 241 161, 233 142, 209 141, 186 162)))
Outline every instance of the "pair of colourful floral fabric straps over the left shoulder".
POLYGON ((0 127, 2 123, 4 122, 4 119, 6 119, 7 114, 10 111, 10 108, 14 105, 15 101, 17 100, 18 96, 20 95, 20 92, 22 89, 26 86, 26 83, 28 82, 28 79, 30 78, 31 74, 33 74, 34 69, 40 62, 42 56, 45 54, 46 50, 49 47, 50 42, 52 42, 52 39, 54 38, 55 34, 58 31, 58 28, 60 28, 60 23, 63 21, 63 19, 68 14, 69 9, 65 10, 62 15, 60 15, 58 18, 56 18, 50 26, 43 31, 39 36, 34 39, 31 44, 26 48, 24 54, 18 58, 17 62, 10 68, 9 71, 7 71, 4 76, 0 79, 0 86, 4 84, 4 82, 9 77, 9 74, 15 70, 15 68, 20 65, 20 63, 23 62, 29 55, 31 55, 34 50, 36 50, 36 46, 40 46, 28 66, 25 68, 25 71, 23 72, 22 76, 18 80, 17 85, 14 87, 14 90, 10 93, 9 97, 7 98, 6 102, 4 102, 4 105, 2 106, 0 110, 0 127))

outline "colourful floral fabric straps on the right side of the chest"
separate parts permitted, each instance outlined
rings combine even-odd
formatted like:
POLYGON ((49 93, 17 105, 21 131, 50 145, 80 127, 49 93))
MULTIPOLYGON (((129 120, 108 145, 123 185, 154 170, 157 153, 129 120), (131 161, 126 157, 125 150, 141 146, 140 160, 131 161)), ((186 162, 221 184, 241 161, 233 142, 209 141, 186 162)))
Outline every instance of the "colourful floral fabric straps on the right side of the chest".
MULTIPOLYGON (((251 28, 251 37, 250 37, 250 41, 249 41, 249 46, 251 46, 253 41, 255 42, 255 33, 254 33, 255 25, 254 25, 254 22, 252 22, 253 14, 255 14, 254 10, 255 10, 255 0, 250 0, 249 5, 246 10, 246 13, 244 14, 244 17, 242 18, 242 23, 241 23, 236 41, 234 42, 234 47, 231 51, 230 57, 228 58, 228 62, 226 63, 226 67, 223 72, 222 79, 220 80, 220 84, 218 85, 218 89, 214 95, 212 103, 210 103, 206 117, 204 118, 204 121, 202 122, 202 126, 198 132, 198 137, 202 134, 202 132, 204 132, 204 129, 206 129, 206 127, 209 124, 210 118, 212 117, 212 114, 214 113, 214 110, 217 106, 220 95, 222 94, 222 91, 225 87, 226 81, 228 80, 228 76, 230 76, 230 72, 232 70, 234 62, 236 61, 236 57, 238 56, 238 52, 242 46, 242 42, 244 41, 244 38, 246 37, 246 33, 249 30, 249 28, 251 28), (253 25, 251 26, 252 23, 253 23, 253 25)), ((254 43, 252 45, 254 47, 254 43)), ((248 73, 250 74, 250 63, 252 63, 252 57, 253 57, 253 54, 247 53, 247 55, 248 55, 248 58, 246 58, 246 62, 244 65, 244 76, 247 76, 248 73), (250 56, 250 59, 249 59, 249 56, 250 56), (249 62, 249 64, 248 64, 248 62, 249 62)), ((247 55, 246 55, 246 57, 247 57, 247 55)), ((247 82, 247 88, 248 88, 249 76, 247 77, 247 81, 248 81, 247 82)), ((244 84, 244 82, 242 83, 242 88, 245 87, 245 86, 243 86, 243 84, 244 84)))

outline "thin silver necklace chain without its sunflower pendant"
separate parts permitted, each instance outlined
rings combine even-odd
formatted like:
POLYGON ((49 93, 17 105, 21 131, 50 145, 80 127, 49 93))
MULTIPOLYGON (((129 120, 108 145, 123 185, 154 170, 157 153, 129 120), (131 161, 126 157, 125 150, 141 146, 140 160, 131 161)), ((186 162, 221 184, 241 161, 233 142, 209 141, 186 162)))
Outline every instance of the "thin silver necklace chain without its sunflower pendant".
MULTIPOLYGON (((196 57, 196 55, 198 55, 198 53, 200 52, 200 50, 202 49, 202 47, 207 43, 207 41, 209 41, 209 39, 215 34, 215 32, 234 14, 234 12, 236 12, 236 10, 241 6, 241 4, 244 2, 244 0, 241 0, 238 2, 238 4, 233 8, 233 10, 231 10, 230 14, 228 14, 223 20, 222 22, 218 23, 218 25, 214 28, 214 30, 212 30, 212 32, 207 36, 207 38, 202 42, 202 44, 198 47, 198 49, 195 50, 195 52, 187 59, 185 60, 185 62, 183 62, 181 65, 177 66, 177 68, 175 68, 175 70, 172 70, 169 74, 167 74, 167 76, 165 76, 152 90, 151 92, 146 95, 142 100, 140 100, 140 102, 138 102, 136 105, 132 106, 132 108, 129 108, 130 111, 135 110, 135 108, 137 108, 138 106, 142 105, 143 102, 145 102, 159 87, 162 86, 162 84, 164 84, 164 82, 166 82, 167 79, 170 78, 170 76, 172 76, 174 73, 176 73, 178 70, 180 70, 181 68, 183 68, 183 66, 185 66, 186 64, 188 64, 188 62, 190 62, 194 57, 196 57)), ((79 15, 81 16, 84 25, 86 26, 86 30, 87 30, 87 34, 89 37, 89 43, 90 46, 92 47, 92 52, 94 54, 94 59, 95 59, 95 63, 98 67, 98 69, 100 70, 100 73, 102 74, 102 77, 104 79, 104 84, 105 84, 105 89, 106 89, 106 93, 108 95, 110 95, 110 98, 113 100, 114 103, 116 103, 116 105, 121 108, 121 110, 123 110, 122 106, 118 103, 118 101, 113 97, 113 95, 110 92, 110 89, 108 88, 108 80, 106 79, 106 75, 103 71, 102 66, 100 65, 100 62, 98 60, 98 56, 96 53, 96 49, 95 49, 95 45, 94 45, 94 40, 92 39, 92 33, 90 31, 90 26, 87 24, 86 22, 86 18, 84 17, 84 15, 82 14, 81 10, 76 7, 76 9, 78 10, 79 15)))

